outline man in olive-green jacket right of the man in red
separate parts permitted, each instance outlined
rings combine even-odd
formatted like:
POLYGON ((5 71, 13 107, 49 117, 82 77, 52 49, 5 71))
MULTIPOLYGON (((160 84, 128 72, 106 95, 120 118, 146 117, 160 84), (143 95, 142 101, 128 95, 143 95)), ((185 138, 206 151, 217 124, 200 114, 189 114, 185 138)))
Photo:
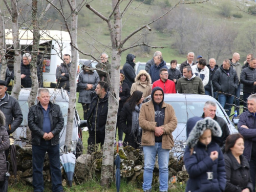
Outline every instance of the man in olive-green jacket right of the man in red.
POLYGON ((178 79, 176 90, 177 93, 205 94, 202 79, 192 73, 190 66, 184 67, 183 77, 178 79))

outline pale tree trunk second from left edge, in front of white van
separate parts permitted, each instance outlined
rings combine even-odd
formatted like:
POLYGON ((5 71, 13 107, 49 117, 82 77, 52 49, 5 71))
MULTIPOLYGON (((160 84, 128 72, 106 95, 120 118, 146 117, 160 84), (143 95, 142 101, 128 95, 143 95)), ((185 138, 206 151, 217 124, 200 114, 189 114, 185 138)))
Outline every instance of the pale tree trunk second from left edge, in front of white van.
POLYGON ((12 89, 11 96, 18 99, 18 95, 20 92, 20 62, 22 61, 22 58, 20 57, 21 51, 20 51, 20 45, 19 45, 19 38, 18 38, 18 8, 17 8, 17 2, 15 0, 11 1, 11 9, 9 5, 7 4, 7 1, 4 0, 5 5, 12 15, 12 40, 13 40, 13 48, 14 48, 14 62, 13 62, 13 70, 14 70, 14 86, 12 89))

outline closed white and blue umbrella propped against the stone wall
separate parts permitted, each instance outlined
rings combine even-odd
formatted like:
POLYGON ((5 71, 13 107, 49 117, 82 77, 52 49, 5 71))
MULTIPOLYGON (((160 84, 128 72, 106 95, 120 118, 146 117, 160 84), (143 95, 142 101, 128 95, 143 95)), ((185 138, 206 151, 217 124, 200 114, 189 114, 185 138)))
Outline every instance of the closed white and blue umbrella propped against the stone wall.
POLYGON ((76 156, 73 153, 69 153, 67 146, 64 146, 64 154, 60 156, 60 163, 63 165, 65 172, 67 174, 69 186, 72 187, 72 181, 74 177, 76 156))

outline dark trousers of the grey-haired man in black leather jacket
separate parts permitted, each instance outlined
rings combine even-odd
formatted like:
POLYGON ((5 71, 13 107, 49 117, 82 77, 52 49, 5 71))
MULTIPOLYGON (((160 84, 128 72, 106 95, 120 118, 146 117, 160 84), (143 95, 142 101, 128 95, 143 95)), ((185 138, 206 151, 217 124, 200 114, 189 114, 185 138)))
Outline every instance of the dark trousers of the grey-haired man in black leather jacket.
POLYGON ((42 176, 42 169, 44 166, 46 152, 48 153, 50 159, 52 191, 59 192, 63 190, 59 160, 59 144, 51 145, 51 141, 45 140, 41 140, 40 145, 32 145, 34 191, 44 191, 44 178, 42 176))

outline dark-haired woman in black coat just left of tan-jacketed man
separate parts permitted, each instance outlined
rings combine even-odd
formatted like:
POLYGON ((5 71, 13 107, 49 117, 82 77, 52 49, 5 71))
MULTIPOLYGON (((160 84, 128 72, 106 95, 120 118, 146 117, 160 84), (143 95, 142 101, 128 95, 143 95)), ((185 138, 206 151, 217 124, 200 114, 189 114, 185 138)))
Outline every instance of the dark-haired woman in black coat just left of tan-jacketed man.
POLYGON ((125 133, 123 146, 130 145, 134 148, 141 146, 142 131, 139 126, 139 112, 143 100, 143 93, 135 91, 122 108, 119 126, 125 133))

